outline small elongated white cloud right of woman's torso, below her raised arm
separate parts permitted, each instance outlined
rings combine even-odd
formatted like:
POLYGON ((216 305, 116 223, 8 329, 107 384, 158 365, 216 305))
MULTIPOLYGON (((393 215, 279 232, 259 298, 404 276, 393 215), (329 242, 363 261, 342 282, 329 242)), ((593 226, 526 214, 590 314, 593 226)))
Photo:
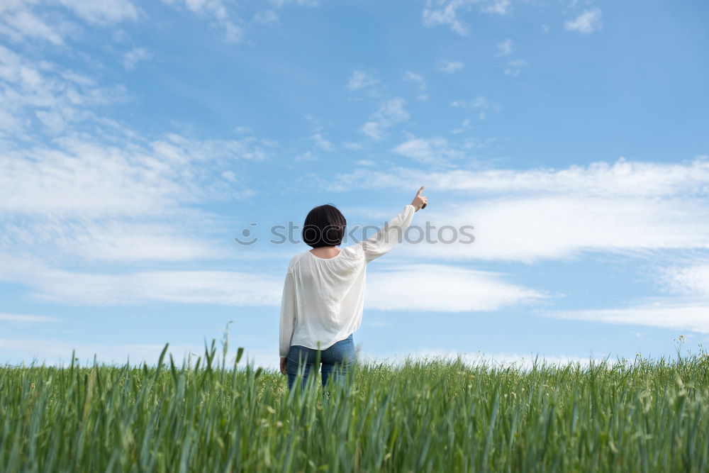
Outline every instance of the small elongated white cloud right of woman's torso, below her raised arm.
POLYGON ((384 311, 496 311, 546 298, 534 289, 504 282, 501 274, 452 265, 378 267, 367 273, 367 279, 365 305, 384 311))

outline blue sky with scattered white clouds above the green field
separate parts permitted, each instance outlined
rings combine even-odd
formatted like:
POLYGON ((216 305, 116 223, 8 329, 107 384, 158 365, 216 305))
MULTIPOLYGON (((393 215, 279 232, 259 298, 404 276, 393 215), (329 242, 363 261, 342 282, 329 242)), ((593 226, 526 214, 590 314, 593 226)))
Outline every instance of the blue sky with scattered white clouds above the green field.
POLYGON ((0 6, 0 360, 277 364, 269 243, 332 203, 472 244, 368 269, 362 354, 671 355, 709 338, 701 1, 0 6), (258 241, 238 245, 249 228, 258 241))

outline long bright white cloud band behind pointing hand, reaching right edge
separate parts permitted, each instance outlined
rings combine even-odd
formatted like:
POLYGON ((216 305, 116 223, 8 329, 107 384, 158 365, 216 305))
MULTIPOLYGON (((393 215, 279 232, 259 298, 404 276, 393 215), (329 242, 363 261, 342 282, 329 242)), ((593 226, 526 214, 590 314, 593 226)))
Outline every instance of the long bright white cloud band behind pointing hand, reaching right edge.
POLYGON ((432 225, 474 226, 471 244, 405 247, 404 255, 449 260, 534 262, 584 252, 657 255, 709 247, 709 162, 619 160, 566 169, 445 172, 357 169, 330 179, 330 189, 392 189, 422 182, 432 225), (467 191, 472 196, 461 194, 467 191), (454 202, 446 196, 454 193, 454 202))

